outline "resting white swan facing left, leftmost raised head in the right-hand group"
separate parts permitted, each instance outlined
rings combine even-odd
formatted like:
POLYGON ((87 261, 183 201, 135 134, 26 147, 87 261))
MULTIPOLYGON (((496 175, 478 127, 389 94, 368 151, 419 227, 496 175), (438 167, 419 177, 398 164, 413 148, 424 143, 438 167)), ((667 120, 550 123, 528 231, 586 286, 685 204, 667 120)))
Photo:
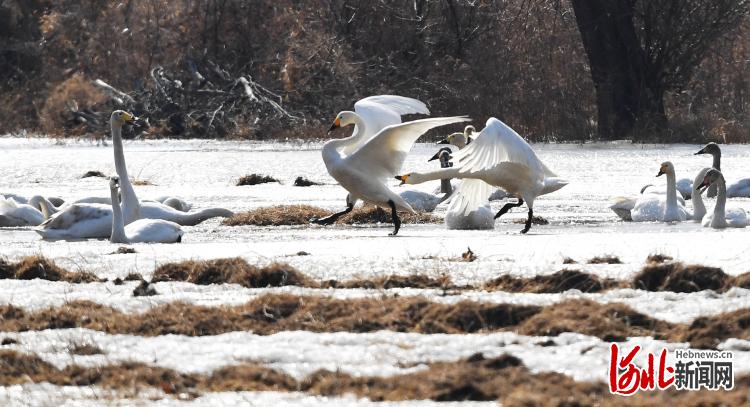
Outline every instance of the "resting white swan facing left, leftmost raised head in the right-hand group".
POLYGON ((690 218, 685 206, 677 200, 674 165, 665 161, 657 177, 667 175, 667 194, 642 194, 631 211, 633 222, 682 222, 690 218))

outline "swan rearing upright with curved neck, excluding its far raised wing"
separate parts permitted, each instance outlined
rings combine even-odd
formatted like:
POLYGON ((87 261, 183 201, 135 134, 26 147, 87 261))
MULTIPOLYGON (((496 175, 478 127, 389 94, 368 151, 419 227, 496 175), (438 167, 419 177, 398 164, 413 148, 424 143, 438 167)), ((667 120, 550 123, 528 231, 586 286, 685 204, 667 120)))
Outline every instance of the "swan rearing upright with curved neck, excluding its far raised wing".
MULTIPOLYGON (((400 119, 399 119, 400 120, 400 119)), ((440 117, 393 124, 383 128, 368 140, 361 142, 361 134, 367 130, 365 122, 355 112, 340 112, 331 130, 348 125, 357 126, 357 134, 344 139, 329 140, 323 145, 323 162, 328 173, 346 189, 346 210, 321 219, 311 219, 320 225, 329 225, 354 208, 358 200, 382 208, 390 208, 395 236, 401 227, 397 210, 414 213, 398 194, 385 184, 394 176, 411 150, 414 142, 428 130, 446 124, 468 121, 466 117, 440 117), (353 148, 356 144, 356 148, 353 148), (345 155, 344 151, 352 151, 345 155)))

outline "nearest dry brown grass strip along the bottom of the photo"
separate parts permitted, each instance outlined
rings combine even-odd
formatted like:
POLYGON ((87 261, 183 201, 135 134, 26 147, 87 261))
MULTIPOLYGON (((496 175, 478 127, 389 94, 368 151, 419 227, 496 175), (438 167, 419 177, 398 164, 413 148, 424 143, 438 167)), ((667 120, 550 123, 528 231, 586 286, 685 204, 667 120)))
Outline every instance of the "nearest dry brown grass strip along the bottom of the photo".
POLYGON ((57 369, 35 355, 0 351, 0 385, 50 382, 55 385, 101 386, 114 390, 162 389, 168 394, 217 391, 303 391, 328 397, 354 394, 373 401, 499 400, 505 406, 734 406, 750 402, 750 377, 741 376, 731 392, 642 392, 632 397, 609 394, 604 383, 576 382, 560 373, 531 373, 511 355, 486 358, 474 354, 454 362, 428 364, 426 370, 390 377, 354 377, 316 371, 302 380, 245 363, 209 375, 125 362, 101 367, 71 365, 57 369))

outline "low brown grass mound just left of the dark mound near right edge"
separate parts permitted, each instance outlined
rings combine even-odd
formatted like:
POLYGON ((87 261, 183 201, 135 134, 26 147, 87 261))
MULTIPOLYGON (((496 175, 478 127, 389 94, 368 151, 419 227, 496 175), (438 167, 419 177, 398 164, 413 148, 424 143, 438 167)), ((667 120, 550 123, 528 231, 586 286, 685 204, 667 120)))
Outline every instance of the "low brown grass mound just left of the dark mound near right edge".
POLYGON ((493 291, 531 293, 561 293, 568 290, 596 293, 617 286, 618 282, 614 280, 602 280, 595 275, 580 270, 564 269, 551 275, 534 276, 532 278, 504 275, 486 282, 483 288, 493 291))

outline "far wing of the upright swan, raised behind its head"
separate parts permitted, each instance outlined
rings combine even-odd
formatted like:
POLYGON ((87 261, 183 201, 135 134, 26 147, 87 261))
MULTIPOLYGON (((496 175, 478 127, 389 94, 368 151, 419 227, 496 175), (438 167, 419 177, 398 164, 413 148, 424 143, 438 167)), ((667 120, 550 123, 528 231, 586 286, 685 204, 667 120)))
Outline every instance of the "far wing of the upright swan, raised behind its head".
MULTIPOLYGON (((401 116, 405 114, 430 114, 427 105, 417 99, 397 95, 370 96, 354 104, 354 112, 365 123, 365 133, 357 143, 345 147, 341 152, 350 155, 364 145, 373 136, 388 126, 401 123, 401 116)), ((354 132, 359 132, 355 128, 354 132)), ((356 134, 353 134, 356 135, 356 134)))

